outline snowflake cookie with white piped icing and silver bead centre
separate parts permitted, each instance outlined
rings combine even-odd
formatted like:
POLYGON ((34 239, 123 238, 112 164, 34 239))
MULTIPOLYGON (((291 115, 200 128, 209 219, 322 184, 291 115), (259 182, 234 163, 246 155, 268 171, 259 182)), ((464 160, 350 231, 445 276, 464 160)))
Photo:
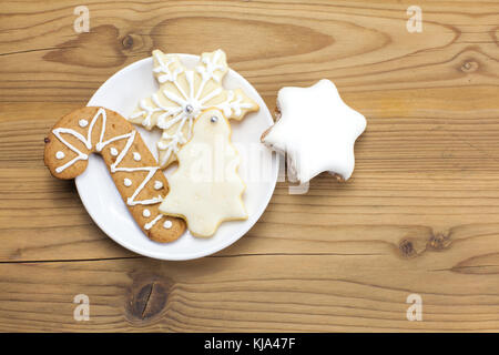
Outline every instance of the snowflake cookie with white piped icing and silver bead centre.
POLYGON ((153 51, 154 77, 160 90, 141 100, 129 118, 151 130, 163 130, 157 150, 161 168, 176 160, 176 153, 192 134, 193 122, 208 108, 221 110, 227 119, 241 120, 258 104, 241 89, 226 90, 222 80, 228 71, 225 52, 216 50, 201 54, 198 64, 187 69, 176 54, 153 51))

